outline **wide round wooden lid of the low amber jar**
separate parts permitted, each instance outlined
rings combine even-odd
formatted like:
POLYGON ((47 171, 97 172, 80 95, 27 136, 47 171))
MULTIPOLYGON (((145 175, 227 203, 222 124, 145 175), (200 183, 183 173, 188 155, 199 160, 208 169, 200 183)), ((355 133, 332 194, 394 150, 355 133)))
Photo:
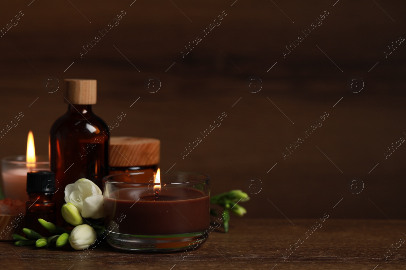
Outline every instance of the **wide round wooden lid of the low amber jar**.
POLYGON ((110 167, 137 167, 159 163, 160 140, 141 137, 110 137, 110 167))

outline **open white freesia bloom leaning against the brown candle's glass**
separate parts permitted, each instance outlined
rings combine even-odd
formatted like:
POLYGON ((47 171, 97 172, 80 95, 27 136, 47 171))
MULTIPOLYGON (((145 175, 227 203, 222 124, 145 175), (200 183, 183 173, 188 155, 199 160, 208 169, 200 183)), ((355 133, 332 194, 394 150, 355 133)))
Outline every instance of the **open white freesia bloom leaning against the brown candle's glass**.
POLYGON ((79 179, 65 187, 65 202, 76 206, 82 217, 98 219, 104 216, 102 191, 89 179, 79 179))

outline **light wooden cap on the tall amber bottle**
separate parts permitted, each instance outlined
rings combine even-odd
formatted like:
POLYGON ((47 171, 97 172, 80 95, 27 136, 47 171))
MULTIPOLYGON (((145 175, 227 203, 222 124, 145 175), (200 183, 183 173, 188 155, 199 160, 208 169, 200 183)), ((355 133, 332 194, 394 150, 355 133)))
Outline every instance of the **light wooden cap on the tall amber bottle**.
POLYGON ((65 79, 65 103, 96 104, 97 81, 86 79, 65 79))

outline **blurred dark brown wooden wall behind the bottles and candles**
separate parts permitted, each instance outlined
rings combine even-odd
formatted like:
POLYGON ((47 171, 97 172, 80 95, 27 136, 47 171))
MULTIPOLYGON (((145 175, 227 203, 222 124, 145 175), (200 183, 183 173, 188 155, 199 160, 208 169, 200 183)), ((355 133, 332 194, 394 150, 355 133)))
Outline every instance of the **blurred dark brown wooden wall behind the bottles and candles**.
POLYGON ((384 151, 406 138, 406 44, 387 58, 384 51, 406 36, 405 8, 400 0, 3 2, 1 28, 24 15, 0 37, 0 129, 25 116, 0 139, 0 156, 25 154, 30 129, 37 154, 48 154, 50 126, 67 105, 62 83, 54 93, 43 87, 47 76, 97 79, 95 113, 108 124, 126 113, 112 136, 159 138, 163 172, 175 164, 171 170, 210 174, 212 194, 257 193, 262 183, 243 204, 248 217, 404 218, 406 146, 387 159, 384 151), (324 11, 322 25, 283 58, 324 11), (182 58, 198 35, 203 40, 182 58), (81 58, 95 36, 101 40, 81 58), (149 76, 162 83, 156 93, 144 87, 149 76), (248 91, 251 76, 261 78, 261 91, 248 91), (365 83, 356 94, 347 87, 352 76, 365 83), (221 126, 182 159, 223 112, 221 126), (324 112, 322 127, 283 159, 324 112), (365 184, 356 195, 347 188, 352 177, 365 184))

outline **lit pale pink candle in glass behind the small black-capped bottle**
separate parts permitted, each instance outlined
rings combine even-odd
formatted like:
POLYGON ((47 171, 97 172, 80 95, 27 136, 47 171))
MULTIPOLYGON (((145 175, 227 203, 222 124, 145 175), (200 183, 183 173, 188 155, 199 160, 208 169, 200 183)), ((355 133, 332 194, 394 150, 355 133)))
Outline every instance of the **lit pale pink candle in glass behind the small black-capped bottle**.
POLYGON ((28 132, 27 154, 2 159, 3 192, 6 198, 28 200, 27 172, 49 170, 48 157, 36 156, 34 136, 28 132))

